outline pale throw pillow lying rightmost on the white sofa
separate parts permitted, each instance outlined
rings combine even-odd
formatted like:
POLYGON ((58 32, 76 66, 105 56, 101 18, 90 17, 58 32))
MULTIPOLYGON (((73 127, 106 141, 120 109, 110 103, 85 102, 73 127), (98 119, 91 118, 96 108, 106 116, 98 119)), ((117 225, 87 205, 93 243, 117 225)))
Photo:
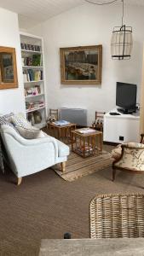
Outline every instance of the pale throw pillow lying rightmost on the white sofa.
POLYGON ((26 139, 35 139, 35 138, 41 137, 41 131, 35 127, 32 127, 32 128, 34 129, 27 129, 22 126, 15 125, 15 129, 19 131, 20 136, 26 139))

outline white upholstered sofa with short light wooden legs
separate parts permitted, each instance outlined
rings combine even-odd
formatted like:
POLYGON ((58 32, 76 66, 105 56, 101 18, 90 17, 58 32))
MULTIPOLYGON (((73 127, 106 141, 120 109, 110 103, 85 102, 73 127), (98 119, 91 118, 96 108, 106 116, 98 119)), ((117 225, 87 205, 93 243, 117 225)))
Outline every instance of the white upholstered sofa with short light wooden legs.
POLYGON ((43 132, 41 138, 25 139, 9 125, 1 125, 1 136, 10 167, 18 177, 18 185, 22 177, 40 172, 57 163, 61 163, 61 169, 65 172, 69 147, 54 137, 43 132))

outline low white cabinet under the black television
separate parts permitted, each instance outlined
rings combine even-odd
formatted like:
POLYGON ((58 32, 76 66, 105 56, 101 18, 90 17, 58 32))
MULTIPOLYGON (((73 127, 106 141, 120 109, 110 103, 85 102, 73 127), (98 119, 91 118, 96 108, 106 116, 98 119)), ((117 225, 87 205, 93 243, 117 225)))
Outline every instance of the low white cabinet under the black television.
MULTIPOLYGON (((118 111, 116 109, 111 112, 118 111)), ((140 137, 140 116, 139 113, 111 115, 106 113, 104 115, 104 142, 110 143, 126 143, 134 141, 139 143, 140 137)))

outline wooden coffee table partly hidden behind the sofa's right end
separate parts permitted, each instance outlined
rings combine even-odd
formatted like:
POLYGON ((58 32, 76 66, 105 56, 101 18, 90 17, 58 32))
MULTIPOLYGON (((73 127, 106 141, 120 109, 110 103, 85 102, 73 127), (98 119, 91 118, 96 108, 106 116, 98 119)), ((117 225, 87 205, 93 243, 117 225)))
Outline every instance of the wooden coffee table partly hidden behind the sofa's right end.
POLYGON ((49 123, 47 127, 51 136, 64 143, 71 143, 71 132, 76 129, 76 124, 55 125, 55 123, 49 123))

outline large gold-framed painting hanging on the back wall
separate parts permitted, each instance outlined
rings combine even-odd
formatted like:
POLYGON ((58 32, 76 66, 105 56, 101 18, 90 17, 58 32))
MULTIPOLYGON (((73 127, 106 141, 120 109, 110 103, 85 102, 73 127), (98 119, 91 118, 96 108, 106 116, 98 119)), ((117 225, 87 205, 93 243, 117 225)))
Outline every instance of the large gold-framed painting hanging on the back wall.
POLYGON ((61 84, 101 84, 102 45, 60 48, 61 84))

